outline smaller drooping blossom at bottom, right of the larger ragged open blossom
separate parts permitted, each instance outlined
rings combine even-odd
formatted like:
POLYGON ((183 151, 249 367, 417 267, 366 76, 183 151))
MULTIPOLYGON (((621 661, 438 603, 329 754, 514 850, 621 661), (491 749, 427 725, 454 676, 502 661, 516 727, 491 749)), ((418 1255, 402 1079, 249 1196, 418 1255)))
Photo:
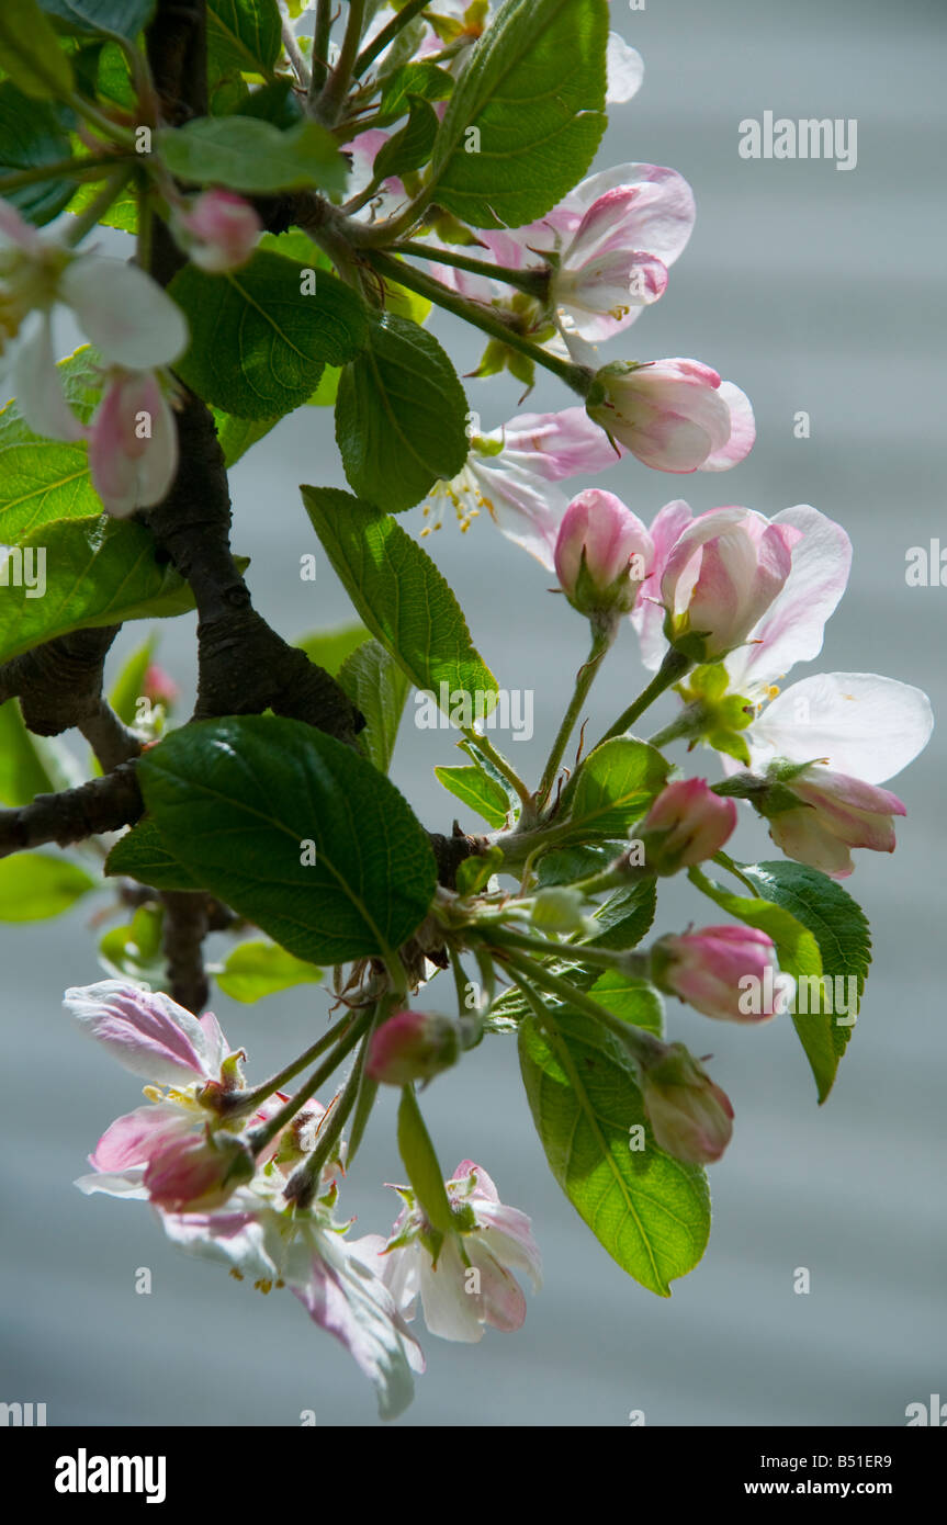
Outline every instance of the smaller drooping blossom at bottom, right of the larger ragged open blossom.
POLYGON ((352 1249, 378 1269, 409 1321, 421 1298, 424 1322, 441 1339, 479 1340, 485 1324, 518 1330, 526 1299, 511 1270, 525 1272, 534 1292, 541 1281, 529 1218, 503 1206, 486 1171, 470 1159, 461 1161, 445 1186, 457 1234, 444 1238, 439 1247, 432 1249, 430 1226, 413 1193, 396 1186, 406 1206, 387 1244, 378 1235, 368 1235, 352 1249))

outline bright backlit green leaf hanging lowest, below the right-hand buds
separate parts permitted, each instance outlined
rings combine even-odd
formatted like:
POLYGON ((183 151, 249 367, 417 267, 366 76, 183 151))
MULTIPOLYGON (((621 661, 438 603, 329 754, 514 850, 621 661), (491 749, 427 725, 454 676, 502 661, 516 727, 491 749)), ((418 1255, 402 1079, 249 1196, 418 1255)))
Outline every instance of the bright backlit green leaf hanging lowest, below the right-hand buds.
MULTIPOLYGON (((612 1002, 608 1002, 612 1010, 612 1002)), ((654 1031, 653 993, 622 996, 654 1031)), ((549 1031, 520 1023, 520 1068, 552 1174, 613 1260, 642 1287, 669 1283, 700 1260, 711 1228, 706 1177, 657 1148, 630 1057, 599 1023, 560 1006, 549 1031), (633 1150, 630 1130, 645 1147, 633 1150)))

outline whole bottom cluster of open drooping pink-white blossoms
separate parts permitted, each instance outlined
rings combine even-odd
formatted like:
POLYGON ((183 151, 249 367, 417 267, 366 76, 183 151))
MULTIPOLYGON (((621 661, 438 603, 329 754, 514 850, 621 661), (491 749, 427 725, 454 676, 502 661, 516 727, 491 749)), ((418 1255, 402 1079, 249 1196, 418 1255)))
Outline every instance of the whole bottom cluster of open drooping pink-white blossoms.
POLYGON ((64 1005, 82 1032, 148 1081, 148 1106, 110 1124, 79 1190, 148 1200, 180 1249, 226 1264, 261 1292, 288 1287, 372 1380, 383 1418, 410 1403, 412 1372, 424 1369, 407 1328, 418 1293, 430 1333, 442 1339, 522 1325, 526 1305, 511 1272, 538 1287, 540 1255, 529 1218, 503 1206, 479 1165, 464 1161, 445 1183, 453 1235, 433 1235, 409 1188, 396 1188, 406 1208, 389 1240, 349 1240, 351 1225, 334 1215, 339 1151, 310 1206, 287 1191, 331 1109, 308 1100, 293 1110, 274 1090, 241 1112, 242 1051, 229 1048, 210 1013, 194 1017, 169 996, 102 981, 67 990, 64 1005), (285 1124, 267 1127, 284 1113, 285 1124))

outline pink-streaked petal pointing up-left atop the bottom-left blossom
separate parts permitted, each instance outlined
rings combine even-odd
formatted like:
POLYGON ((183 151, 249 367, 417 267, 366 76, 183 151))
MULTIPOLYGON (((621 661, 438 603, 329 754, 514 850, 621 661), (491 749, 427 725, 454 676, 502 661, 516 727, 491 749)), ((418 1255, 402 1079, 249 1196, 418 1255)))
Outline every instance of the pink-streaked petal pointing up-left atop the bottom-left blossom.
POLYGON ((157 1086, 217 1080, 217 1042, 162 991, 117 979, 67 990, 63 1005, 133 1075, 157 1086))

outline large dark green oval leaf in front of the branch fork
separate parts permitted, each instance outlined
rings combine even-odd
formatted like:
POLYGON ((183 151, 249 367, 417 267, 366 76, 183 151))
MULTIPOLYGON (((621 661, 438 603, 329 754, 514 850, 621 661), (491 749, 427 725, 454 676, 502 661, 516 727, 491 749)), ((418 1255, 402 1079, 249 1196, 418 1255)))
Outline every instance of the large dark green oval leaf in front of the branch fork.
POLYGON ((188 724, 143 755, 139 778, 188 872, 297 958, 384 956, 427 915, 427 833, 371 762, 311 726, 188 724))

